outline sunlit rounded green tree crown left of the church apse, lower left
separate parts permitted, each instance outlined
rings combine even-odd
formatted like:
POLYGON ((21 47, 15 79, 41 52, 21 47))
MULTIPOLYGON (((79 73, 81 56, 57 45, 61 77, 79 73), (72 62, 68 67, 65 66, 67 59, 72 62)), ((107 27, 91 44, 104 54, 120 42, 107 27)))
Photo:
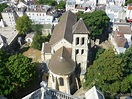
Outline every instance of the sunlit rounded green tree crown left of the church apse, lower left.
POLYGON ((8 58, 6 67, 11 74, 10 78, 13 86, 25 87, 29 81, 33 80, 35 64, 31 62, 31 58, 27 58, 22 54, 12 55, 8 58))

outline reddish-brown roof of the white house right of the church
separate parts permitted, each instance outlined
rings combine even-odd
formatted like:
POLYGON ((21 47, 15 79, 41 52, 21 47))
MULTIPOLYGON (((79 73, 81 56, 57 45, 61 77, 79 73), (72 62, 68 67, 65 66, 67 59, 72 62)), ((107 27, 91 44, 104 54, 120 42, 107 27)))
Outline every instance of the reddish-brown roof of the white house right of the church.
POLYGON ((114 39, 118 47, 125 47, 127 41, 122 32, 115 32, 114 39))

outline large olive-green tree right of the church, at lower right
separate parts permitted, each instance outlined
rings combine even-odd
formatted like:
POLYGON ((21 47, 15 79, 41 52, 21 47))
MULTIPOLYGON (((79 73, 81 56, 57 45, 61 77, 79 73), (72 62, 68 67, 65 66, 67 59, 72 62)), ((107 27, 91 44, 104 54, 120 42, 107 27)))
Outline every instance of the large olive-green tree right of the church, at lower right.
POLYGON ((130 77, 124 75, 124 68, 123 60, 113 50, 106 50, 89 67, 83 87, 89 89, 96 85, 104 93, 111 95, 130 92, 132 86, 127 79, 130 77))

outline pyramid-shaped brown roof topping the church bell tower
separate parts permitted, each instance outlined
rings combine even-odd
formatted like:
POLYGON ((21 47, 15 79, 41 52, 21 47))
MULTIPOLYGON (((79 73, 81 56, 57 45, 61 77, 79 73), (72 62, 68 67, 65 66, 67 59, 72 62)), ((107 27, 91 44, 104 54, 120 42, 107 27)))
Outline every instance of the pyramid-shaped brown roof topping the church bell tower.
POLYGON ((86 25, 82 18, 78 20, 78 22, 73 26, 73 33, 89 33, 86 25))

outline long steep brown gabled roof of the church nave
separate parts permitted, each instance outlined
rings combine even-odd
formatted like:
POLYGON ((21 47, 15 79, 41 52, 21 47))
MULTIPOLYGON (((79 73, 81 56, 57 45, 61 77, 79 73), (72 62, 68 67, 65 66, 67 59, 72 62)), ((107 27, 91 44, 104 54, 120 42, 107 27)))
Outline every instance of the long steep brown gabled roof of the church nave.
POLYGON ((76 15, 74 15, 71 11, 63 13, 59 24, 57 24, 53 30, 51 39, 49 41, 50 44, 53 45, 62 38, 72 43, 72 26, 75 24, 76 20, 76 15))

